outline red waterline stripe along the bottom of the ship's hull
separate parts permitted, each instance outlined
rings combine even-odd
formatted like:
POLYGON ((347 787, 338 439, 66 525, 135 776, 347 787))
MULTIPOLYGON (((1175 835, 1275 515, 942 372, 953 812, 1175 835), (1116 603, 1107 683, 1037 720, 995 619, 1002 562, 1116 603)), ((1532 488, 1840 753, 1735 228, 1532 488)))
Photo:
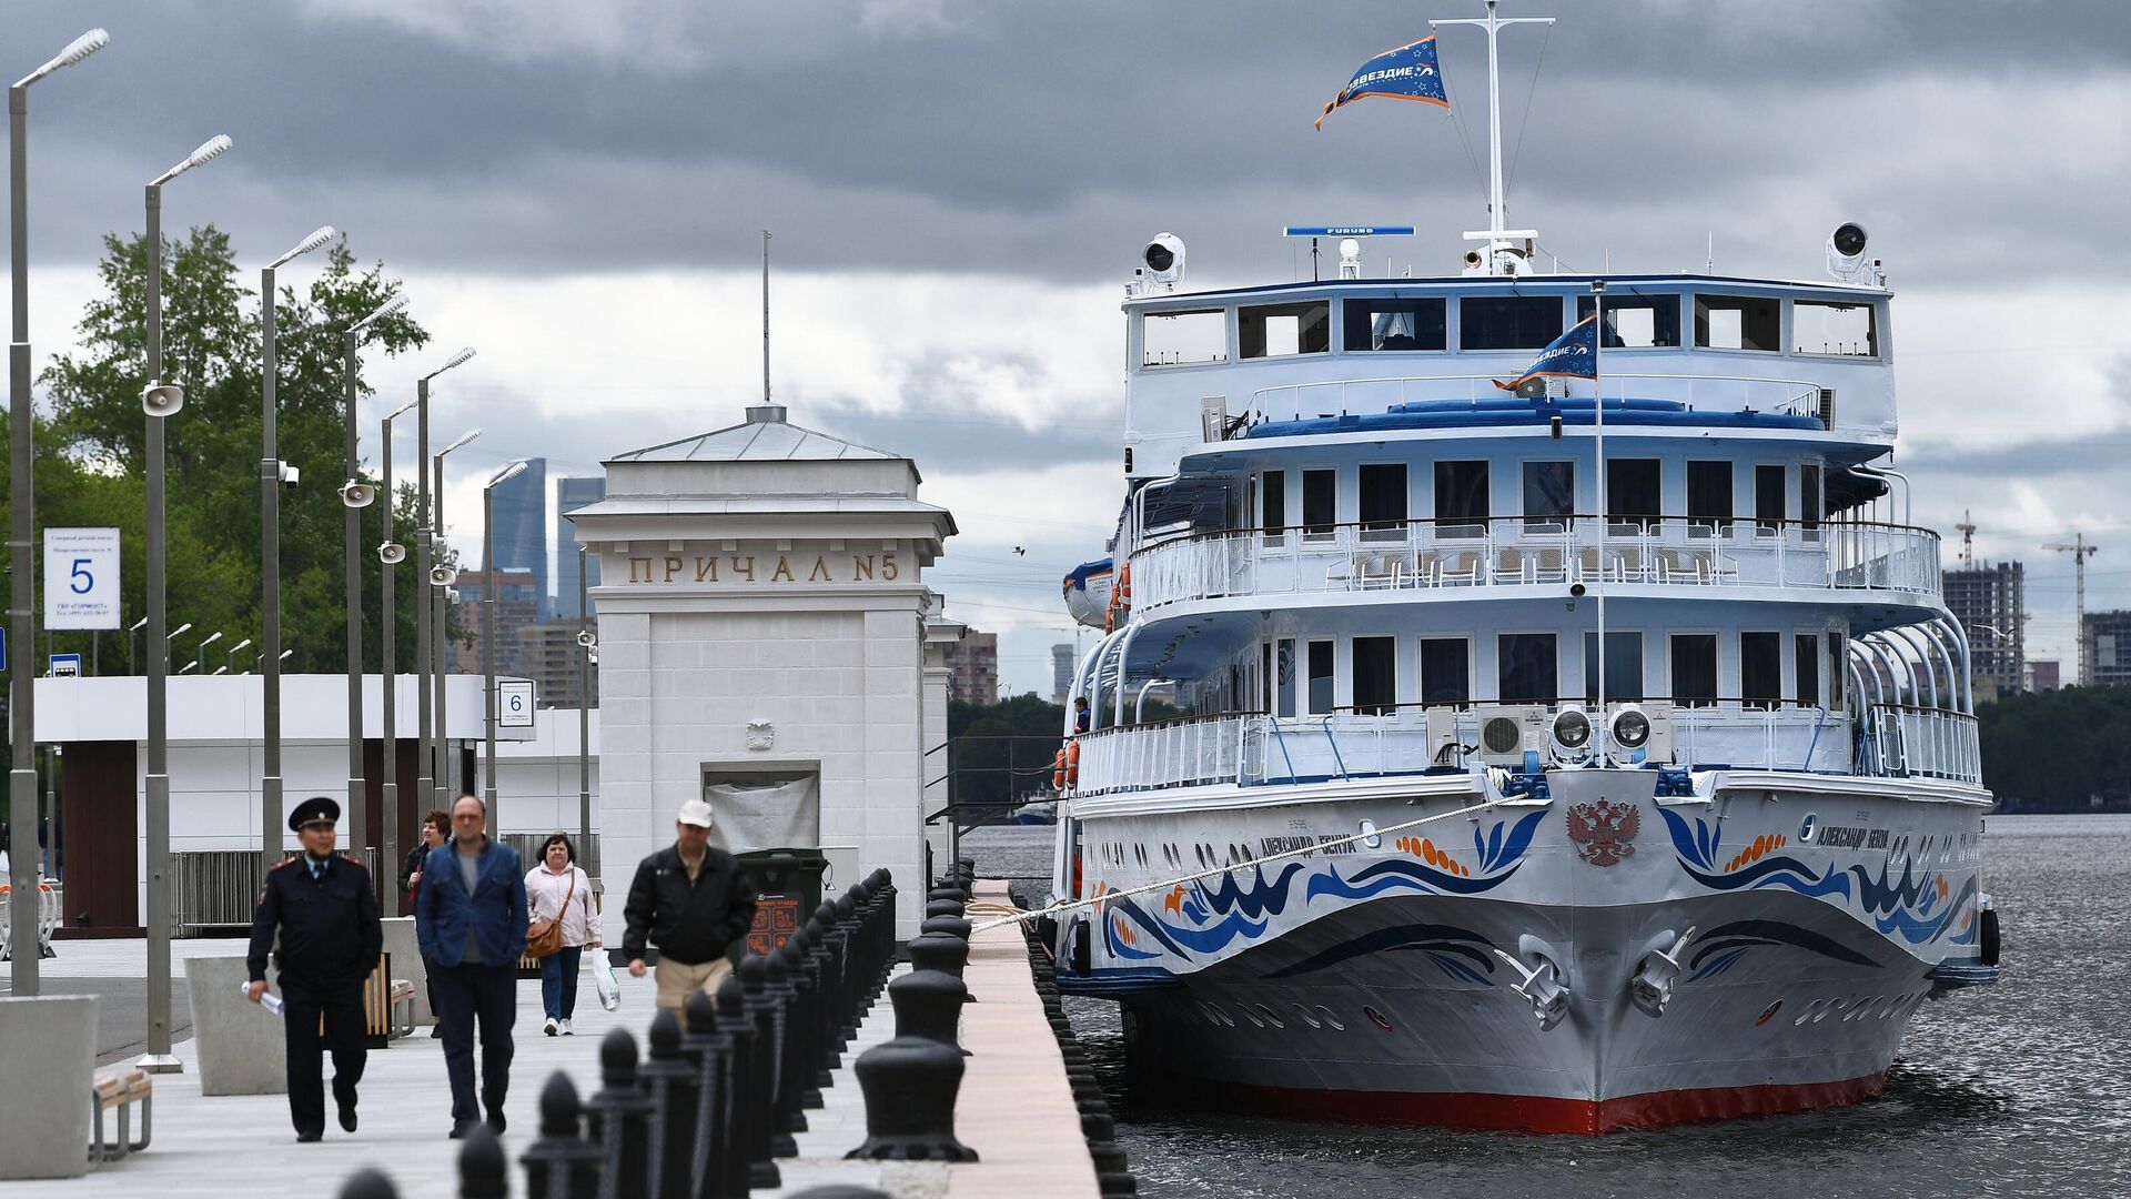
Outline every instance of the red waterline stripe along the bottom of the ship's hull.
POLYGON ((1694 1120, 1775 1116, 1811 1107, 1839 1107, 1886 1088, 1886 1071, 1841 1082, 1769 1086, 1709 1086, 1652 1090, 1617 1099, 1553 1099, 1541 1094, 1406 1092, 1406 1090, 1302 1090, 1287 1086, 1206 1084, 1198 1094, 1291 1120, 1347 1120, 1355 1124, 1434 1124, 1502 1133, 1600 1135, 1620 1129, 1658 1129, 1694 1120))

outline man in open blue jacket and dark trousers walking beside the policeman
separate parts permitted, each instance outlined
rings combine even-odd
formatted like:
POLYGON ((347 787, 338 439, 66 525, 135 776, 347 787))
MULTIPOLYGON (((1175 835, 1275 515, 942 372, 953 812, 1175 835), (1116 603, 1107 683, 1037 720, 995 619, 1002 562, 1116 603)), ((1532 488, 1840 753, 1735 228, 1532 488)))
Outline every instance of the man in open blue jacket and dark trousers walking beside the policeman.
POLYGON ((452 804, 452 838, 428 851, 416 900, 416 941, 437 988, 443 1069, 452 1075, 452 1139, 488 1107, 503 1133, 511 1086, 511 1024, 518 1022, 518 956, 526 947, 526 873, 518 851, 492 841, 488 806, 452 804), (473 1022, 482 1022, 482 1090, 473 1090, 473 1022))

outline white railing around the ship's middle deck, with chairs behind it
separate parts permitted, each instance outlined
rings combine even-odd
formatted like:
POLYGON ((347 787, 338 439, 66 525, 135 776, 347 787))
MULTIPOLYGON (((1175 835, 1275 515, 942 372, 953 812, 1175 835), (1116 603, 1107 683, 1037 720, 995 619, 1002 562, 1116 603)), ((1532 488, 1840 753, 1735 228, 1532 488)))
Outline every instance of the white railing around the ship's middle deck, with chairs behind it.
POLYGON ((1939 535, 1862 521, 1562 514, 1217 529, 1132 555, 1138 614, 1230 595, 1573 582, 1937 597, 1939 535))

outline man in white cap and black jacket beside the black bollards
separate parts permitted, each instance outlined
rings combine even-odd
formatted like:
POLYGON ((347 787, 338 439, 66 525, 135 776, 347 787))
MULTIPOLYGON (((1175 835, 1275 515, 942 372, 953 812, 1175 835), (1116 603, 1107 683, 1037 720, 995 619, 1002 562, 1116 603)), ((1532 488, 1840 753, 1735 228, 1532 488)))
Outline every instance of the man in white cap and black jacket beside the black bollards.
POLYGON ((710 804, 688 800, 673 845, 637 864, 622 920, 629 973, 644 977, 644 945, 658 945, 658 1007, 680 1009, 693 990, 712 990, 733 971, 727 945, 754 924, 754 892, 739 864, 710 843, 710 804))

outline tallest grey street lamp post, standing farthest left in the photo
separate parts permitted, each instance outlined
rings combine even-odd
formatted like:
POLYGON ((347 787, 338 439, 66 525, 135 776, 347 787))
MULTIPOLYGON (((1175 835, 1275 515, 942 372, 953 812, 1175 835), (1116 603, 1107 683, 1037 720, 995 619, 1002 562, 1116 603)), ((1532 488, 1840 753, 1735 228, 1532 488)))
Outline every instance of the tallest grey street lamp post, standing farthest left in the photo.
POLYGON ((9 924, 15 928, 9 986, 13 994, 34 996, 38 984, 36 939, 36 875, 43 853, 36 847, 36 721, 34 670, 30 640, 36 636, 36 429, 30 412, 30 85, 104 49, 111 34, 90 30, 66 45, 53 60, 23 75, 6 90, 9 126, 9 265, 13 267, 15 322, 9 341, 9 561, 17 565, 9 580, 9 632, 21 664, 9 674, 9 713, 13 715, 15 764, 9 770, 9 800, 15 817, 15 849, 9 858, 9 924), (30 945, 30 952, 21 952, 30 945))

